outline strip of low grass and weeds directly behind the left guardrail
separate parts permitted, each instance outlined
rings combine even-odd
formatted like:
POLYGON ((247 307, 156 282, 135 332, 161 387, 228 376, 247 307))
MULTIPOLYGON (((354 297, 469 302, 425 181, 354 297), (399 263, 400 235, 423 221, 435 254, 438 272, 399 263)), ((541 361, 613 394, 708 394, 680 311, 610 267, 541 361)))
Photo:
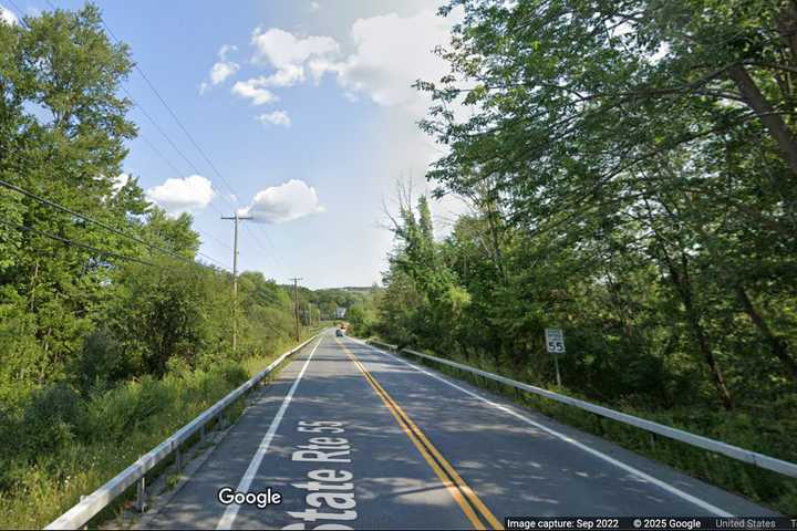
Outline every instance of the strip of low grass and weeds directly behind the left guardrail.
MULTIPOLYGON (((315 332, 306 331, 302 341, 315 332)), ((69 439, 32 465, 3 462, 12 480, 0 490, 0 529, 46 525, 296 344, 286 340, 266 356, 143 377, 92 396, 64 426, 69 439)), ((228 420, 241 410, 230 407, 228 420)))

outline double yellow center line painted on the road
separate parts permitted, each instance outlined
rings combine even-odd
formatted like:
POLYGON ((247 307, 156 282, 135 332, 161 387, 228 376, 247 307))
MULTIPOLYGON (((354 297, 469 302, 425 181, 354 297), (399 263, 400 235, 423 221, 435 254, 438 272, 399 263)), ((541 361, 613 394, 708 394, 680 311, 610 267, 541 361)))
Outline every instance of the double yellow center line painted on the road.
POLYGON ((410 440, 415 445, 421 456, 432 467, 437 477, 441 479, 445 488, 452 494, 454 500, 459 504, 463 512, 470 520, 475 529, 504 529, 501 522, 490 512, 487 506, 476 496, 468 487, 465 480, 457 473, 452 465, 443 457, 443 455, 434 447, 423 431, 412 421, 410 416, 391 398, 387 392, 379 382, 369 373, 365 366, 360 363, 356 356, 335 337, 338 344, 343 352, 351 358, 354 365, 360 369, 371 387, 376 392, 380 398, 385 403, 387 409, 393 414, 398 425, 402 427, 410 440), (485 523, 486 522, 486 523, 485 523))

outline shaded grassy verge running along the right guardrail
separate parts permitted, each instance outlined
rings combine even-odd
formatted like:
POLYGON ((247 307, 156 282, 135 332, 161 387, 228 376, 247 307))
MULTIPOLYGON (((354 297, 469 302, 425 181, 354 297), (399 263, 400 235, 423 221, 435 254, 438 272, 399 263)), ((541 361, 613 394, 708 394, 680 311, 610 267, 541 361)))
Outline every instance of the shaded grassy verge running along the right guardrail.
MULTIPOLYGON (((428 354, 439 354, 429 352, 428 354)), ((632 426, 599 417, 539 395, 520 392, 508 385, 482 378, 447 365, 416 356, 407 356, 413 363, 435 368, 449 376, 466 381, 562 424, 597 435, 619 446, 635 451, 659 462, 666 464, 694 478, 714 485, 731 492, 744 496, 757 503, 767 506, 787 516, 797 514, 797 480, 747 465, 725 456, 650 434, 632 426)), ((463 363, 483 371, 520 379, 517 374, 505 374, 487 358, 460 358, 445 356, 447 360, 463 363)), ((529 382, 532 385, 539 385, 529 382)), ((549 387, 549 391, 575 398, 596 403, 594 399, 579 395, 569 388, 549 387)), ((650 410, 629 405, 601 404, 623 413, 646 418, 685 431, 711 437, 724 442, 766 454, 787 461, 797 461, 797 418, 794 415, 753 415, 749 412, 716 412, 715 409, 682 408, 672 410, 650 410)), ((785 408, 784 408, 785 409, 785 408)), ((773 412, 779 410, 773 408, 773 412)))

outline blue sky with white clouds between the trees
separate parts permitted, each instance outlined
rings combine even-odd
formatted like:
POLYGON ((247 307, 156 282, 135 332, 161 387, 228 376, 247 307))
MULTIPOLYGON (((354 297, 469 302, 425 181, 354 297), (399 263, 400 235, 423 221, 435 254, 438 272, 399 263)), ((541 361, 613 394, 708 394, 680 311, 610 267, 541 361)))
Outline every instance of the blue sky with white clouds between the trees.
MULTIPOLYGON (((46 0, 14 3, 50 9, 46 0)), ((185 158, 135 108, 142 137, 124 170, 168 210, 194 215, 204 254, 231 263, 231 222, 219 216, 238 209, 257 220, 240 233, 241 270, 302 277, 311 288, 380 281, 392 247, 383 204, 395 205, 400 178, 425 190, 425 168, 439 155, 415 125, 425 96, 410 87, 446 72, 432 54, 452 24, 435 15, 437 2, 96 3, 220 174, 133 72, 125 86, 185 158)), ((444 232, 463 205, 433 208, 444 232)))

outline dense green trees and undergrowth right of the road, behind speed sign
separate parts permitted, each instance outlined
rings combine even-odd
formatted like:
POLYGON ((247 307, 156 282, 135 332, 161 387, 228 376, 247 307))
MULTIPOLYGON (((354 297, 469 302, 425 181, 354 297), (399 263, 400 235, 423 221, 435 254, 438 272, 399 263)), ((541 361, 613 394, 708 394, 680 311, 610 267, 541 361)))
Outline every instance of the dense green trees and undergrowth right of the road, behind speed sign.
MULTIPOLYGON (((455 8, 465 17, 439 51, 451 75, 417 84, 434 101, 421 126, 445 146, 435 194, 473 212, 436 241, 426 198, 400 197, 373 330, 552 385, 544 330, 562 327, 566 387, 794 460, 760 431, 786 433, 797 395, 797 11, 451 0, 441 12, 455 8)), ((720 470, 784 507, 766 478, 720 470)))

